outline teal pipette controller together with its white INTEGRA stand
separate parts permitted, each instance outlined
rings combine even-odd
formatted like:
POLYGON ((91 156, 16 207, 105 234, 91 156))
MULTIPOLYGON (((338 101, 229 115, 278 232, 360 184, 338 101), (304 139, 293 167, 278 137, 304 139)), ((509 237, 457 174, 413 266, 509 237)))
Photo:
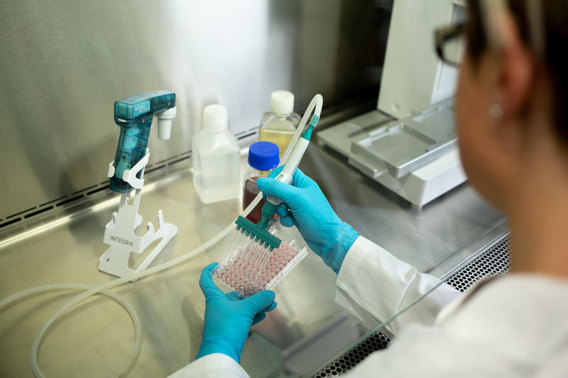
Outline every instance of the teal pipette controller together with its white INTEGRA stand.
POLYGON ((162 211, 158 211, 158 230, 151 222, 146 225, 143 236, 134 234, 142 223, 138 214, 141 189, 144 184, 144 167, 148 164, 150 153, 148 138, 152 127, 152 118, 158 118, 158 137, 169 139, 172 119, 175 118, 175 93, 154 91, 137 94, 114 103, 114 122, 120 126, 119 145, 114 161, 109 164, 110 189, 121 193, 119 211, 112 214, 112 219, 104 230, 104 243, 110 245, 107 252, 99 259, 99 270, 124 277, 133 272, 140 272, 158 256, 170 240, 178 233, 172 223, 165 223, 162 211), (132 190, 136 194, 132 199, 132 190), (160 243, 150 252, 137 269, 129 268, 131 252, 142 253, 155 240, 160 243))

